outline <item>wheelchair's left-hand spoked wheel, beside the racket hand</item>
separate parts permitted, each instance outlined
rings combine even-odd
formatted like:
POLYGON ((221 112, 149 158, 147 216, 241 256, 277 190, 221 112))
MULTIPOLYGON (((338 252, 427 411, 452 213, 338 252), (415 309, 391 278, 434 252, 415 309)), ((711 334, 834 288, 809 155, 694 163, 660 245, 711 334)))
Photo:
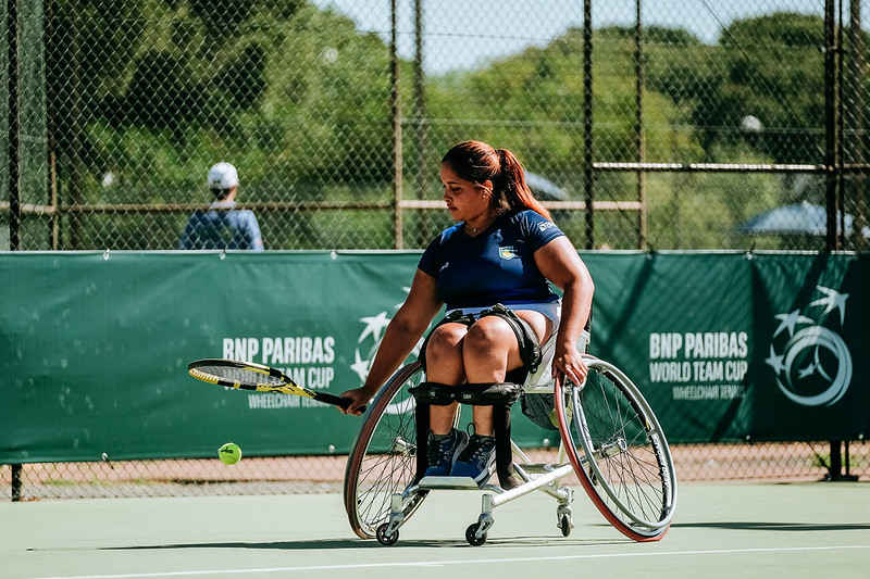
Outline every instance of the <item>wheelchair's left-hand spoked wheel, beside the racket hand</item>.
MULTIPOLYGON (((414 482, 417 473, 417 418, 408 388, 423 379, 419 362, 400 368, 374 398, 348 455, 345 470, 345 511, 361 539, 377 537, 389 520, 390 499, 414 482)), ((427 491, 417 492, 405 507, 410 517, 427 491)), ((398 536, 398 533, 397 533, 398 536)))

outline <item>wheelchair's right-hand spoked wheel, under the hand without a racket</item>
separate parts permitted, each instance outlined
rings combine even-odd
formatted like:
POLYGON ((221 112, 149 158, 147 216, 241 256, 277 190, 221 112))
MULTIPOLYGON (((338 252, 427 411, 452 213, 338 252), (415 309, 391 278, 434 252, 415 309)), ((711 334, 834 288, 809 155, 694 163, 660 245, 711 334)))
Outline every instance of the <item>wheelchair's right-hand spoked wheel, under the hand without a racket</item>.
POLYGON ((668 441, 637 387, 584 355, 586 382, 556 387, 559 432, 584 490, 620 532, 657 541, 671 525, 676 476, 668 441))

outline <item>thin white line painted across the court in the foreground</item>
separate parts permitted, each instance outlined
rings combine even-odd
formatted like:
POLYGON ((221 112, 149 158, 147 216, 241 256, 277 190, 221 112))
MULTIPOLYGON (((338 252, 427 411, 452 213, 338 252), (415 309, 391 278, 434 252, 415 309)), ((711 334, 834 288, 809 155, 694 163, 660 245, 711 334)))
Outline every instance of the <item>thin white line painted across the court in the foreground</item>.
POLYGON ((666 551, 661 553, 601 553, 597 555, 559 555, 551 557, 508 557, 508 558, 484 558, 484 559, 456 559, 456 561, 417 561, 406 563, 364 563, 357 565, 307 565, 302 567, 266 567, 261 569, 215 569, 201 571, 166 571, 166 572, 142 572, 124 575, 76 575, 76 576, 53 576, 38 577, 36 579, 134 579, 147 577, 196 577, 198 575, 241 575, 241 574, 270 574, 287 571, 319 571, 319 570, 339 570, 339 569, 377 569, 389 567, 444 567, 448 565, 473 565, 492 563, 525 563, 544 561, 581 561, 594 558, 626 558, 626 557, 661 557, 661 556, 685 556, 685 555, 729 555, 745 553, 788 553, 794 551, 841 551, 848 549, 868 549, 870 545, 831 545, 831 546, 788 546, 788 547, 766 547, 766 549, 714 549, 704 551, 666 551))

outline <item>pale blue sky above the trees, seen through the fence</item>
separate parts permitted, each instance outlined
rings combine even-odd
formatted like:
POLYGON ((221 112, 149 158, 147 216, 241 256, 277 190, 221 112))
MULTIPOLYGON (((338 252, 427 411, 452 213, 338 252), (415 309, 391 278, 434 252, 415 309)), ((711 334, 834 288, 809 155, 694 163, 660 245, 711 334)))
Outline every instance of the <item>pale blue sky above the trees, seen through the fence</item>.
MULTIPOLYGON (((389 0, 314 0, 347 14, 361 30, 389 39, 389 0)), ((583 25, 583 0, 423 0, 428 73, 471 70, 529 46, 546 46, 583 25)), ((846 0, 847 4, 848 0, 846 0)), ((399 51, 413 54, 413 0, 397 0, 399 51)), ((824 0, 645 0, 644 25, 681 27, 714 43, 722 26, 778 11, 822 15, 824 0)), ((844 9, 847 10, 847 9, 844 9)), ((867 7, 863 7, 867 17, 867 7)), ((593 25, 632 25, 634 0, 594 0, 593 25)))

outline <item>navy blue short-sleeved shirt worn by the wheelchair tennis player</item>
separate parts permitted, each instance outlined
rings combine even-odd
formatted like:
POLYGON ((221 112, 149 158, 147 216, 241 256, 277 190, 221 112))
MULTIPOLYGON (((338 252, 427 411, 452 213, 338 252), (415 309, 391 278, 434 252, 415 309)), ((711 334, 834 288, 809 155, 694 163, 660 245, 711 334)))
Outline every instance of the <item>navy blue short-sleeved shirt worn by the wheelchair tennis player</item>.
POLYGON ((448 311, 555 302, 559 297, 533 255, 563 235, 532 210, 502 215, 476 237, 468 236, 460 223, 430 243, 418 268, 435 278, 448 311))

